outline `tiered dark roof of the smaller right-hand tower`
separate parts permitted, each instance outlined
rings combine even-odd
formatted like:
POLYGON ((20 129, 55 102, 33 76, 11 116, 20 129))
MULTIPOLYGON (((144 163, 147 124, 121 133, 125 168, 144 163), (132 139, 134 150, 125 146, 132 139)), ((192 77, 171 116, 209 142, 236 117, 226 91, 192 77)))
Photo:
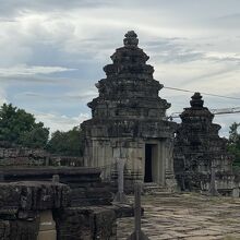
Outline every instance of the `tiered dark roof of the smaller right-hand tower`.
POLYGON ((184 108, 180 115, 182 123, 177 134, 177 146, 184 145, 199 152, 211 151, 213 147, 225 149, 226 142, 218 135, 220 125, 213 123, 214 115, 204 107, 201 94, 194 93, 191 98, 191 107, 184 108))

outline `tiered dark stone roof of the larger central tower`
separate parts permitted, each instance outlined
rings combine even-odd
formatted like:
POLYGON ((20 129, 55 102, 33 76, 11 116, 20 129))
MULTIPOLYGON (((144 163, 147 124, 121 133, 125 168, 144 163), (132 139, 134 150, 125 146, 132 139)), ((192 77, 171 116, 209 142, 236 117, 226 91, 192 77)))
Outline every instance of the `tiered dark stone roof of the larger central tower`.
POLYGON ((163 85, 146 64, 149 57, 137 47, 133 31, 125 34, 123 44, 111 56, 112 63, 104 67, 107 77, 96 84, 99 96, 88 104, 93 118, 164 119, 170 104, 158 96, 163 85))

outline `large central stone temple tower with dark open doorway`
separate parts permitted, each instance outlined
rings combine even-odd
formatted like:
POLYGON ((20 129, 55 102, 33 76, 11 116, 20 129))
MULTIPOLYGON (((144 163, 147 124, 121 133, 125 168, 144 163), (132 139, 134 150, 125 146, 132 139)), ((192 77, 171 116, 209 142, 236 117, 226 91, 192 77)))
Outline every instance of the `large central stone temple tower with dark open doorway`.
POLYGON ((177 124, 166 120, 170 107, 158 96, 163 85, 154 80, 149 57, 137 47, 130 31, 104 67, 99 96, 88 103, 92 119, 82 123, 85 166, 100 167, 103 179, 112 180, 116 160, 124 159, 125 187, 136 180, 175 185, 172 144, 177 124))

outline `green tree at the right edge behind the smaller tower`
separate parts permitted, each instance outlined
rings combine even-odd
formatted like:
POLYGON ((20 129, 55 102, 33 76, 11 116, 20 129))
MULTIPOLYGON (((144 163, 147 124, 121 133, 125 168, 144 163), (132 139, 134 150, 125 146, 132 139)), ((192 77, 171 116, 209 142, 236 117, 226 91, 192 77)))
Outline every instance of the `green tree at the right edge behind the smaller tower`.
POLYGON ((235 156, 235 166, 240 167, 240 133, 238 129, 240 123, 233 122, 230 125, 228 151, 235 156))

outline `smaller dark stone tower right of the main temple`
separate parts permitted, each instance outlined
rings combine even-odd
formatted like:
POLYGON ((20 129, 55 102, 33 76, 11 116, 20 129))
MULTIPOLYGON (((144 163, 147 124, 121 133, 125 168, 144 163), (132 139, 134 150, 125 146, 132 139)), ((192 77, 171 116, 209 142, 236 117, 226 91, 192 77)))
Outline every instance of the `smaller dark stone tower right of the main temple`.
POLYGON ((175 141, 175 172, 182 189, 206 190, 211 168, 215 168, 218 189, 231 191, 232 158, 227 153, 227 141, 219 137, 219 124, 203 106, 200 93, 190 101, 191 107, 180 115, 182 120, 175 141), (228 184, 229 183, 229 184, 228 184))

